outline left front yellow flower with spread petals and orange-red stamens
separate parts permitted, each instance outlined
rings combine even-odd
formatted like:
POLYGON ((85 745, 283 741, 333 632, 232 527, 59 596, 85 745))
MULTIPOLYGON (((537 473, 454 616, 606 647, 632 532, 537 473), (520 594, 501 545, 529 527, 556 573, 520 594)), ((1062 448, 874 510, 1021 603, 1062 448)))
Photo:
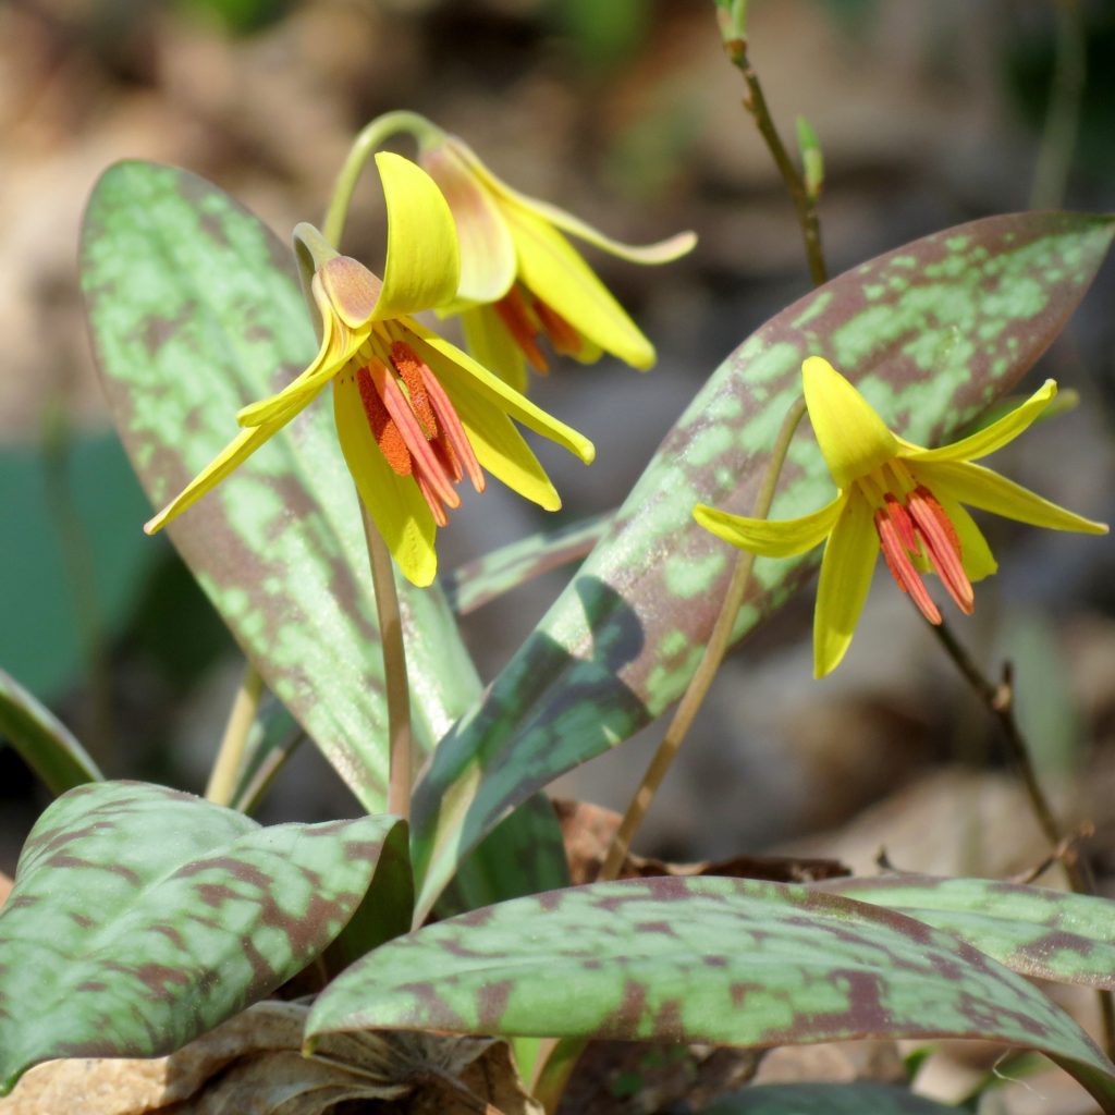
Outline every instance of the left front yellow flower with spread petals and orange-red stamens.
POLYGON ((330 382, 338 437, 360 497, 403 573, 418 585, 434 579, 436 529, 460 505, 456 485, 465 476, 479 492, 486 469, 547 511, 561 506, 511 418, 592 460, 591 442, 406 316, 452 297, 456 235, 428 175, 387 153, 377 155, 377 165, 388 213, 382 283, 312 226, 295 229, 298 252, 312 261, 318 355, 278 395, 240 411, 246 428, 145 525, 148 534, 224 479, 330 382))

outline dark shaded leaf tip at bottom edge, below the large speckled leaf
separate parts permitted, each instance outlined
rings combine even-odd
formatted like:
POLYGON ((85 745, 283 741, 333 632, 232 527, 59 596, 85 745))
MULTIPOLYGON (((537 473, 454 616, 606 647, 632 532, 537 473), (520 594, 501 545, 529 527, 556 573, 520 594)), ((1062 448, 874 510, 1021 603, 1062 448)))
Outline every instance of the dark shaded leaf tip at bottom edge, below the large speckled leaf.
POLYGON ((948 1115, 958 1112, 895 1084, 760 1084, 718 1099, 702 1115, 948 1115))

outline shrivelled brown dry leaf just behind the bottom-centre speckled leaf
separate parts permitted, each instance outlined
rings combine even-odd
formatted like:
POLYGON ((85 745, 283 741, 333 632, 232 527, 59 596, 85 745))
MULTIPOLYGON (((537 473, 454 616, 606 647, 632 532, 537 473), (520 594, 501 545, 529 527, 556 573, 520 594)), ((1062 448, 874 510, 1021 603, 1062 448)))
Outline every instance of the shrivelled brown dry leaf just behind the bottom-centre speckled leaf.
MULTIPOLYGON (((600 872, 609 845, 620 825, 620 815, 588 802, 555 801, 570 878, 574 885, 591 883, 600 872)), ((667 863, 642 855, 628 855, 620 879, 652 875, 727 875, 731 879, 765 879, 775 883, 807 883, 837 879, 851 872, 838 860, 787 855, 736 855, 729 860, 667 863)))

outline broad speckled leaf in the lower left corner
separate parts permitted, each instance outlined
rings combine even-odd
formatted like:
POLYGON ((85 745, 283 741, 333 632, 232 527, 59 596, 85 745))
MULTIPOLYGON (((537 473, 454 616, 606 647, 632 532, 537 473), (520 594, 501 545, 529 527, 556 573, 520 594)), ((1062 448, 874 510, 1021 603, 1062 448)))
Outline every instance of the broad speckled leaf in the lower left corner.
POLYGON ((301 971, 369 891, 395 901, 378 874, 406 859, 390 816, 262 828, 161 786, 70 791, 0 912, 0 1094, 49 1058, 180 1048, 301 971))

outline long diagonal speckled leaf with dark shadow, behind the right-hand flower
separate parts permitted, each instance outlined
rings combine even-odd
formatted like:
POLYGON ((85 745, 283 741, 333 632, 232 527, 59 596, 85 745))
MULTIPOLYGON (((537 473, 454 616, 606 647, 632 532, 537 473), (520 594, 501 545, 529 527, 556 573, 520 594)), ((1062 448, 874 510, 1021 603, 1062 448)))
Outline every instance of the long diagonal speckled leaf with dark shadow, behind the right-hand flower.
MULTIPOLYGON (((820 353, 913 442, 968 423, 1038 359, 1076 308, 1115 220, 989 217, 845 272, 772 318, 667 435, 609 532, 535 632, 438 747, 414 809, 427 909, 454 864, 516 802, 631 736, 677 699, 711 631, 735 551, 697 503, 748 514, 770 446, 820 353)), ((832 481, 808 424, 772 517, 815 510, 832 481)), ((756 562, 743 636, 816 553, 756 562)))

